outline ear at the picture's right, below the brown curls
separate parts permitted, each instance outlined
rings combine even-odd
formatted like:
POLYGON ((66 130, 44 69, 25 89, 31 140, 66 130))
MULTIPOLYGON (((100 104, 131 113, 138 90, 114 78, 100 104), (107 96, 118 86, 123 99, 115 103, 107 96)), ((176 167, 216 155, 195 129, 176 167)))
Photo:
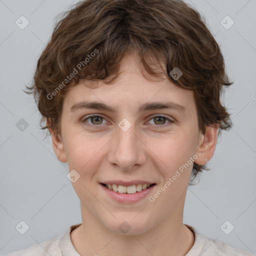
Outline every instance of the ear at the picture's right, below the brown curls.
POLYGON ((201 152, 200 156, 194 160, 199 165, 204 165, 212 157, 217 143, 218 124, 207 126, 204 134, 200 134, 197 150, 201 152))

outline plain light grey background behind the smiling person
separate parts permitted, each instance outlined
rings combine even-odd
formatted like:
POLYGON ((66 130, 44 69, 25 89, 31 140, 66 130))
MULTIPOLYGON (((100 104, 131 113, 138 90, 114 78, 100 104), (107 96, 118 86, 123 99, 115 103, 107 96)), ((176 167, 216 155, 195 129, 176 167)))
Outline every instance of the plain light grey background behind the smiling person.
MULTIPOLYGON (((26 248, 63 233, 81 221, 80 205, 67 164, 54 155, 50 138, 39 129, 33 97, 21 89, 31 81, 36 61, 49 39, 57 13, 76 1, 0 0, 0 254, 26 248), (20 29, 21 16, 29 24, 20 29), (24 118, 28 127, 19 130, 24 118), (21 235, 15 226, 25 221, 21 235)), ((211 170, 189 187, 184 223, 199 232, 256 253, 256 1, 190 0, 206 17, 220 44, 232 88, 225 104, 233 129, 219 138, 211 170), (234 24, 220 21, 230 16, 234 24), (228 220, 234 229, 225 234, 228 220)), ((228 227, 229 228, 229 227, 228 227)))

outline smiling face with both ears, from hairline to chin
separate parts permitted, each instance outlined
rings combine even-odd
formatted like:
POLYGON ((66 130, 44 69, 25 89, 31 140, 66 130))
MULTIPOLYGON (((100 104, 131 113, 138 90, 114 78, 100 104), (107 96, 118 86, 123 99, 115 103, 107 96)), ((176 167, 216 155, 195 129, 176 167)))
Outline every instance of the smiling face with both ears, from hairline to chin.
POLYGON ((192 91, 145 79, 133 55, 120 66, 113 84, 84 81, 68 91, 53 148, 80 175, 72 185, 82 215, 138 234, 182 219, 193 161, 212 156, 216 129, 200 133, 192 91))

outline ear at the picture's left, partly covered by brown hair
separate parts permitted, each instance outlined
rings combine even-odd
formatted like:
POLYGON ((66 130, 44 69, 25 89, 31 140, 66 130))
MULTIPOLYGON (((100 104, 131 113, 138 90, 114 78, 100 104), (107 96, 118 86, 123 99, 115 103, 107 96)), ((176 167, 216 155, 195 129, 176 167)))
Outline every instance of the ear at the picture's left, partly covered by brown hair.
POLYGON ((56 132, 52 129, 52 127, 50 127, 51 122, 49 119, 46 120, 46 125, 48 126, 48 129, 51 135, 52 147, 55 155, 61 162, 66 162, 67 158, 66 158, 66 153, 64 150, 64 145, 63 145, 61 136, 59 134, 56 134, 56 132))

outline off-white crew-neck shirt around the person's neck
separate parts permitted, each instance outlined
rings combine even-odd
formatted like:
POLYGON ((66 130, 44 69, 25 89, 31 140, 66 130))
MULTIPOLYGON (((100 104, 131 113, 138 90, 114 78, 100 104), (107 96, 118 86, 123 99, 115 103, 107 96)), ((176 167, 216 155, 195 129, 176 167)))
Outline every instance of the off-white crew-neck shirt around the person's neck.
MULTIPOLYGON (((63 234, 55 238, 14 251, 6 256, 81 256, 75 250, 70 238, 70 232, 80 224, 71 225, 63 234)), ((192 230, 195 236, 194 244, 185 256, 254 256, 250 252, 234 248, 227 243, 214 241, 198 233, 194 227, 185 225, 192 230)))

